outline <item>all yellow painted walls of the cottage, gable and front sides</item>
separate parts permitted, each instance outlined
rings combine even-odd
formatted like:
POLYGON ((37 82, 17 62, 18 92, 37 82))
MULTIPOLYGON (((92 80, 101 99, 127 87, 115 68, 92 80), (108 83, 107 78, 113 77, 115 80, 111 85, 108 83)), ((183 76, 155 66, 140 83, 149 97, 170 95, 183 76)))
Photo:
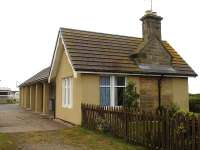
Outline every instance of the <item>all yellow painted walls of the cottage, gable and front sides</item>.
MULTIPOLYGON (((77 74, 73 76, 73 70, 68 62, 68 58, 63 51, 59 67, 56 74, 56 118, 80 125, 81 123, 81 103, 100 104, 99 77, 95 74, 77 74), (62 106, 62 79, 72 77, 72 108, 62 106)), ((150 77, 149 77, 150 78, 150 77)), ((141 94, 141 77, 128 76, 128 81, 136 84, 137 92, 141 94)), ((147 89, 152 89, 157 95, 157 79, 151 77, 154 87, 149 85, 147 89)), ((148 91, 147 91, 148 92, 148 91)), ((163 105, 176 102, 184 110, 188 110, 188 86, 187 79, 164 78, 162 80, 162 101, 163 105)), ((158 96, 156 96, 157 98, 158 96)), ((154 101, 158 105, 157 99, 154 101)))

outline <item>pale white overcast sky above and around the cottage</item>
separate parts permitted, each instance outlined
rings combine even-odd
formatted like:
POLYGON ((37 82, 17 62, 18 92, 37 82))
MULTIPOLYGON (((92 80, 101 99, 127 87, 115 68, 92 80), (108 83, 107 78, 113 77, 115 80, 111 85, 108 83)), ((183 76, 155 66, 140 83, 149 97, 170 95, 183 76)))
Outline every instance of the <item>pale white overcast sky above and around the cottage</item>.
MULTIPOLYGON (((0 0, 0 87, 50 65, 60 27, 141 37, 150 0, 0 0)), ((154 0, 162 37, 200 74, 200 1, 154 0)), ((189 80, 200 93, 200 78, 189 80)))

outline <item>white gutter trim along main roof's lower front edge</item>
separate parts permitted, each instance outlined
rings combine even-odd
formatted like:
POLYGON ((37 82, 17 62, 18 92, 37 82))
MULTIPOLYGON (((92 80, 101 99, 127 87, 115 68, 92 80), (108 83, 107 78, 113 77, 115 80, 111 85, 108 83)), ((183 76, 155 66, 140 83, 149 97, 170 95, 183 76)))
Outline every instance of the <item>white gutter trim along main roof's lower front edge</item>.
POLYGON ((150 77, 178 77, 178 78, 188 78, 189 76, 173 76, 173 75, 154 75, 154 74, 131 74, 131 73, 114 73, 114 72, 90 72, 90 71, 76 71, 82 74, 100 74, 100 75, 123 75, 123 76, 150 76, 150 77))

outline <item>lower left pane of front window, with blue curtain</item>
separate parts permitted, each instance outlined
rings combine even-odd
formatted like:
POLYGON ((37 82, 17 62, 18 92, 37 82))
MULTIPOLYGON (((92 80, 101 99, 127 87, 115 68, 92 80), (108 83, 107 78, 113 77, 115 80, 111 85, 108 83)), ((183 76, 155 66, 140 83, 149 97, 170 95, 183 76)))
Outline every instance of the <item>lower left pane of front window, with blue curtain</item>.
POLYGON ((101 87, 100 88, 100 103, 101 105, 110 105, 110 88, 101 87))

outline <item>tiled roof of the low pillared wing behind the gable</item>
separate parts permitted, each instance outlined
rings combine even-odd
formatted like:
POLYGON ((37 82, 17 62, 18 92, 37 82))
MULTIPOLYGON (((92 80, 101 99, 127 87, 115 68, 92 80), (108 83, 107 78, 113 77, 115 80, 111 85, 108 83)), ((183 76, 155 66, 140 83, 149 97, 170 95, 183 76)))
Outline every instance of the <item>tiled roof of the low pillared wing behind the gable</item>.
POLYGON ((49 72, 50 72, 50 67, 47 67, 38 72, 37 74, 35 74, 34 76, 32 76, 31 78, 29 78, 28 80, 26 80, 20 86, 31 85, 36 82, 47 81, 49 77, 49 72))

